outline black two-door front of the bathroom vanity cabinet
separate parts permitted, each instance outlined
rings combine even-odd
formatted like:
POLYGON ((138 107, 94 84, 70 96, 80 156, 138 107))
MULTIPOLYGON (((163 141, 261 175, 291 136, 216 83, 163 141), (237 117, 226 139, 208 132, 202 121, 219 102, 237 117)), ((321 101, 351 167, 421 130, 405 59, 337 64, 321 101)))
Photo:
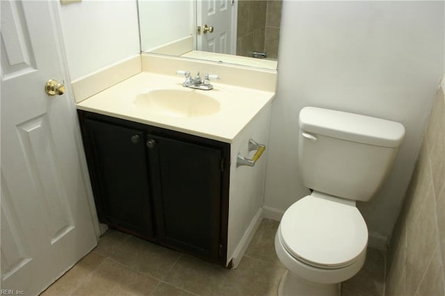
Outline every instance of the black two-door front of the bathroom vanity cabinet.
POLYGON ((99 221, 226 263, 225 142, 78 110, 99 221))

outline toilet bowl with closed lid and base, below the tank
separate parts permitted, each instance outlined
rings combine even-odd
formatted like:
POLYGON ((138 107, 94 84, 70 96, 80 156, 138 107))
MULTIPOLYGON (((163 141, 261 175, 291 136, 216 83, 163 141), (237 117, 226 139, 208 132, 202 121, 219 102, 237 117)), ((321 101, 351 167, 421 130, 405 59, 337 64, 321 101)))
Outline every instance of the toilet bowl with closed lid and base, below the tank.
POLYGON ((277 256, 288 270, 279 295, 340 295, 339 283, 362 268, 367 242, 354 202, 319 192, 303 197, 284 213, 275 235, 277 256))

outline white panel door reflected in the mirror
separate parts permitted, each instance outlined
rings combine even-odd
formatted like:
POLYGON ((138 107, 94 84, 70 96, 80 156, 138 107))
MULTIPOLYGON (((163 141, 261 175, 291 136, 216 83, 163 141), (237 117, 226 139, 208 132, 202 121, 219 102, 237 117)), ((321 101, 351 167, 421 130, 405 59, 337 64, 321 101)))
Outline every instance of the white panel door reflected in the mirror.
POLYGON ((234 0, 197 1, 197 50, 236 54, 236 7, 234 0), (213 32, 204 32, 205 25, 213 32))

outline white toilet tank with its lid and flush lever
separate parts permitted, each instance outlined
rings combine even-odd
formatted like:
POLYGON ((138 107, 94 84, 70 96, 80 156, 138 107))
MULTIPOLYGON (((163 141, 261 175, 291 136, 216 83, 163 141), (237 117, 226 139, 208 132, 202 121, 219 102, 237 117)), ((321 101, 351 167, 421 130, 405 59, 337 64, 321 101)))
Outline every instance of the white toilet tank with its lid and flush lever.
POLYGON ((299 124, 305 186, 362 202, 382 186, 405 135, 398 122, 315 107, 302 108, 299 124))

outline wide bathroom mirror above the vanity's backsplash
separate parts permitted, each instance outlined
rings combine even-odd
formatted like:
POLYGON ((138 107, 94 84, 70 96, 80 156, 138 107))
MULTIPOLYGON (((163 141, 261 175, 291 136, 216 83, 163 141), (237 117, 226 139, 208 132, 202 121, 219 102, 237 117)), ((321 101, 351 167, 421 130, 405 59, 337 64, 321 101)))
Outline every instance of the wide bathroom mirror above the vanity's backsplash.
POLYGON ((138 0, 140 51, 276 69, 282 0, 138 0))

